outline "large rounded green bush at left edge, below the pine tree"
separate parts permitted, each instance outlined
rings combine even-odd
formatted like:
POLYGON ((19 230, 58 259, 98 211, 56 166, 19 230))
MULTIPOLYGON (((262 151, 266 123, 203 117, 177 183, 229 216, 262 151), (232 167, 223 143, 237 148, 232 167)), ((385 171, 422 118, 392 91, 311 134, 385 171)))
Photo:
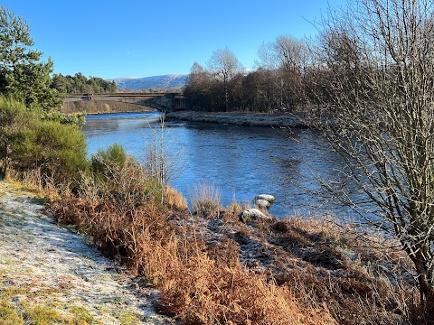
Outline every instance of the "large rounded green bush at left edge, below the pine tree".
POLYGON ((86 138, 78 125, 41 120, 14 100, 0 98, 1 159, 17 172, 40 169, 45 181, 76 181, 87 167, 86 138))

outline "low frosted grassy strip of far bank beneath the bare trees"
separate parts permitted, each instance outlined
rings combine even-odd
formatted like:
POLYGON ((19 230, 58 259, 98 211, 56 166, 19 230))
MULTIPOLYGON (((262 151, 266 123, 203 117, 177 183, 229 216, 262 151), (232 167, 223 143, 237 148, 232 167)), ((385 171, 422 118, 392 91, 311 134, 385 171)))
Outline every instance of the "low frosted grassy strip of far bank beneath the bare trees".
POLYGON ((167 121, 206 122, 230 125, 308 128, 311 125, 301 116, 244 112, 179 111, 167 113, 167 121))

